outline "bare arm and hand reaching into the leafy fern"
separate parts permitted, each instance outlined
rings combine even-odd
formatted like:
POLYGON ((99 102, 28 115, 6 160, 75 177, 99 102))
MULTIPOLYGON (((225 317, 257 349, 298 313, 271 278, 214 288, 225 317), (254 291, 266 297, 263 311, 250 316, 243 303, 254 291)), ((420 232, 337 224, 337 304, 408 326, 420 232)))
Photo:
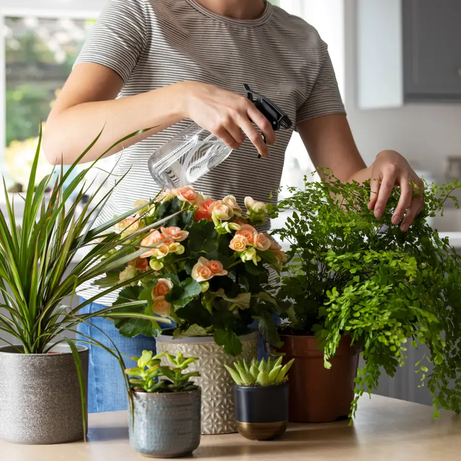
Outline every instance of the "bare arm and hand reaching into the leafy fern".
POLYGON ((371 180, 369 208, 374 209, 376 217, 383 216, 392 188, 398 185, 401 197, 392 223, 401 223, 402 231, 408 230, 424 206, 424 184, 404 157, 395 151, 382 151, 367 167, 343 114, 311 118, 297 128, 316 168, 330 169, 341 181, 371 180))

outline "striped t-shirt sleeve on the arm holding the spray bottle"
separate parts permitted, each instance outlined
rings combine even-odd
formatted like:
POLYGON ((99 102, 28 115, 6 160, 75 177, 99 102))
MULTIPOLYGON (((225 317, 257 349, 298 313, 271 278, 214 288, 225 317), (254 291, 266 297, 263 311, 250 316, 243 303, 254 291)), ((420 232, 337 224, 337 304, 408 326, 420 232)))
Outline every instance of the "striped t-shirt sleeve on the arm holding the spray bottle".
POLYGON ((101 64, 117 72, 126 83, 147 36, 143 0, 109 0, 75 64, 101 64))

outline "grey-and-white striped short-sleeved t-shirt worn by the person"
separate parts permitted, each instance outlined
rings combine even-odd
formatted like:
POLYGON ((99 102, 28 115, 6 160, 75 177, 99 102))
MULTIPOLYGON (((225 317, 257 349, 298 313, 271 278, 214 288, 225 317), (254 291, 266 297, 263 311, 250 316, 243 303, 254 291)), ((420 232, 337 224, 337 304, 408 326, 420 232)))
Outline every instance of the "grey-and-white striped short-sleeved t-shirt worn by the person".
MULTIPOLYGON (((241 20, 217 15, 195 0, 109 0, 76 64, 80 62, 94 62, 117 72, 123 79, 119 97, 183 80, 244 94, 243 83, 247 83, 274 101, 295 125, 344 113, 327 46, 316 29, 268 2, 259 18, 241 20)), ((98 222, 158 192, 149 173, 149 156, 189 123, 183 120, 117 154, 121 157, 114 181, 128 174, 98 222)), ((291 134, 292 130, 277 132, 267 158, 258 158, 253 144, 246 140, 194 187, 215 199, 232 194, 241 205, 248 195, 268 201, 280 185, 291 134)), ((276 199, 274 195, 271 200, 276 199)), ((81 288, 80 295, 87 299, 98 292, 89 284, 81 288)), ((112 294, 98 302, 110 305, 115 299, 112 294)))

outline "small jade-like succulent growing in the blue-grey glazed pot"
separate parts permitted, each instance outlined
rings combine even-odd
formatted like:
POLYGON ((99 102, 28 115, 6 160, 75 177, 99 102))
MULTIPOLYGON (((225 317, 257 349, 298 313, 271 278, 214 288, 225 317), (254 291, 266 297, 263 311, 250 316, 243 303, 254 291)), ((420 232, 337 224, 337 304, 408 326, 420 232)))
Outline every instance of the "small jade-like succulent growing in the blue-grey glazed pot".
POLYGON ((167 352, 154 355, 151 350, 142 351, 141 357, 133 358, 137 367, 125 370, 134 376, 128 381, 135 392, 186 392, 198 389, 190 378, 200 376, 198 371, 183 373, 196 357, 184 357, 181 352, 171 355, 167 352), (167 357, 173 366, 160 365, 162 357, 167 357))

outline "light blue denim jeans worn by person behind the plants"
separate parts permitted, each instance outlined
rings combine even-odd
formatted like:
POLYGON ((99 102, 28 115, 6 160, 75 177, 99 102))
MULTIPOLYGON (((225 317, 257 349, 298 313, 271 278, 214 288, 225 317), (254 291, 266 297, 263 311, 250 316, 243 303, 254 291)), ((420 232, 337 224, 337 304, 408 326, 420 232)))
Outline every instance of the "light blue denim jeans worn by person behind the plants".
MULTIPOLYGON (((81 299, 80 302, 85 302, 85 300, 81 299)), ((91 303, 83 307, 79 313, 93 313, 106 307, 101 304, 91 303)), ((152 350, 155 353, 155 338, 148 338, 141 334, 135 338, 125 338, 121 336, 109 319, 103 319, 102 317, 93 317, 87 322, 78 325, 77 332, 102 343, 109 349, 114 349, 113 344, 109 340, 110 338, 120 353, 124 354, 125 368, 136 366, 136 363, 128 357, 139 357, 143 350, 152 350), (128 357, 125 357, 125 355, 128 357)), ((171 328, 172 325, 160 324, 160 326, 171 328)), ((257 328, 256 322, 251 326, 257 328)), ((77 334, 78 339, 86 341, 85 337, 79 337, 77 334)), ((90 349, 88 412, 100 413, 104 411, 126 410, 128 408, 127 389, 125 388, 123 373, 118 360, 102 347, 86 343, 82 344, 90 349)), ((265 355, 261 339, 258 344, 258 355, 259 357, 265 355)))

